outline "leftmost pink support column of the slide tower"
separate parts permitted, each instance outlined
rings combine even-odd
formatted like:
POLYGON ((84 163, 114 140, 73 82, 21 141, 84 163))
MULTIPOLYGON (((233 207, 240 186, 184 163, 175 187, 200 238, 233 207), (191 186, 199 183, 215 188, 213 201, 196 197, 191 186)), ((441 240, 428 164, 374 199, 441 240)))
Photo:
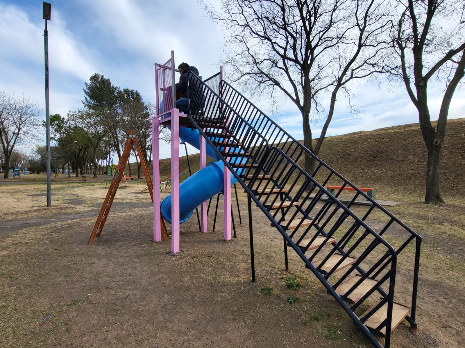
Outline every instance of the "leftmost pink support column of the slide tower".
POLYGON ((161 242, 160 162, 158 148, 158 116, 152 117, 152 176, 153 176, 153 240, 161 242))

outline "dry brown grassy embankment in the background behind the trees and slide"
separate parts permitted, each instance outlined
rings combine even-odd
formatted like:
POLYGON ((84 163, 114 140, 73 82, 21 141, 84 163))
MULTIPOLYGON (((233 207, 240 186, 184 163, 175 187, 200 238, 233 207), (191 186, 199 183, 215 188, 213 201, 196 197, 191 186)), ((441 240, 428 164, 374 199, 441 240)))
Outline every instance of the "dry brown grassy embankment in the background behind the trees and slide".
MULTIPOLYGON (((424 197, 427 152, 418 123, 327 137, 319 157, 355 185, 375 187, 379 199, 399 193, 424 197)), ((199 170, 199 154, 189 155, 189 160, 193 173, 199 170)), ((182 181, 189 174, 186 156, 179 162, 181 173, 187 172, 182 181)), ((170 174, 170 159, 160 160, 160 178, 170 174)), ((465 193, 465 118, 447 122, 440 180, 446 197, 465 193)))

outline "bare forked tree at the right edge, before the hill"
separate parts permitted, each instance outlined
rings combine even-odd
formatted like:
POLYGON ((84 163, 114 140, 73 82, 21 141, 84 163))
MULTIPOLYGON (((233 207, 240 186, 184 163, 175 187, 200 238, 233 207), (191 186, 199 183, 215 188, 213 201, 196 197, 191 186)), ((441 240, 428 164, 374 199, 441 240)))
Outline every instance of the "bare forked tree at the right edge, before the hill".
POLYGON ((401 68, 394 76, 404 82, 418 110, 428 150, 425 203, 441 203, 439 165, 447 116, 452 96, 465 74, 465 2, 402 0, 399 8, 392 39, 401 68), (436 129, 428 107, 428 86, 431 91, 434 84, 444 88, 436 129))

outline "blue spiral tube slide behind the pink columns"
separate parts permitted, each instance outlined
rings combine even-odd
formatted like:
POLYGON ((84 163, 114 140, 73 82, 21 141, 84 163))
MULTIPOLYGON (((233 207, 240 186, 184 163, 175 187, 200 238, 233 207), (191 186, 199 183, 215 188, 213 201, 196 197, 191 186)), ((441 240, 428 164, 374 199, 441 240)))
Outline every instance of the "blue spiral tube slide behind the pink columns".
MULTIPOLYGON (((199 130, 190 128, 179 128, 179 137, 182 142, 187 142, 194 148, 199 149, 199 130)), ((239 148, 238 148, 239 151, 239 148)), ((206 154, 218 160, 213 148, 206 144, 206 154)), ((239 157, 237 162, 247 161, 246 158, 239 157)), ((233 158, 233 162, 236 162, 233 158)), ((179 185, 179 223, 187 221, 193 214, 194 209, 202 202, 210 199, 214 195, 223 191, 223 161, 211 162, 206 168, 194 173, 179 185)), ((238 173, 242 169, 238 170, 238 173)), ((237 179, 231 174, 231 185, 237 179)), ((163 217, 171 223, 171 194, 161 203, 161 213, 163 217)))

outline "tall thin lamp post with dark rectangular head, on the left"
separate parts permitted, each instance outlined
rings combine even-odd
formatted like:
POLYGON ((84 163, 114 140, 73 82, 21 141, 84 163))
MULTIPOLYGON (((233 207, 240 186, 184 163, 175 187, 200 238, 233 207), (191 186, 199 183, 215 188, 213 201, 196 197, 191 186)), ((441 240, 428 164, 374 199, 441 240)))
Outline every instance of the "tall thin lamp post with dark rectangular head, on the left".
POLYGON ((46 128, 46 164, 47 164, 47 206, 52 206, 52 186, 50 178, 50 103, 48 96, 48 31, 47 20, 50 20, 52 5, 42 2, 42 18, 45 19, 44 51, 45 51, 45 128, 46 128))

